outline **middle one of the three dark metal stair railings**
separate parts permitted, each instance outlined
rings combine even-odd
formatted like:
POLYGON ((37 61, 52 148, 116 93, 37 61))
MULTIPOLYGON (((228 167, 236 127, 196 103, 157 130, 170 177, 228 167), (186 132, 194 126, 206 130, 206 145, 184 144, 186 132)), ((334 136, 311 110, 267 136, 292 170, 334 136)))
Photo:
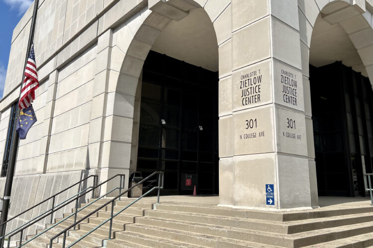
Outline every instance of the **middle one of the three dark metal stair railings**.
MULTIPOLYGON (((29 243, 30 241, 36 239, 36 238, 39 237, 40 235, 46 233, 47 231, 49 231, 49 230, 52 229, 53 227, 55 227, 55 226, 57 226, 58 224, 64 222, 65 220, 69 219, 69 218, 72 217, 72 216, 74 216, 74 223, 75 223, 75 222, 77 221, 77 215, 78 215, 78 212, 80 212, 80 211, 82 211, 83 209, 85 209, 86 207, 92 205, 94 202, 96 202, 97 200, 101 199, 102 197, 104 197, 104 196, 110 194, 111 192, 113 192, 113 191, 116 190, 116 189, 119 189, 119 193, 121 193, 121 190, 124 189, 124 177, 125 177, 124 174, 118 174, 118 175, 115 175, 115 176, 113 176, 113 177, 107 179, 106 181, 100 183, 99 185, 96 185, 96 186, 92 187, 90 190, 88 190, 88 191, 86 191, 86 192, 84 192, 84 193, 82 193, 82 194, 79 194, 79 195, 76 196, 75 198, 65 201, 65 203, 64 203, 63 205, 60 204, 58 207, 55 207, 55 208, 51 211, 51 213, 45 214, 44 216, 40 216, 39 218, 34 219, 33 221, 28 222, 28 224, 27 224, 26 226, 22 227, 22 228, 19 229, 18 231, 10 232, 9 234, 7 234, 7 236, 8 236, 8 244, 7 244, 7 247, 8 247, 8 248, 10 247, 10 239, 11 239, 11 237, 15 236, 15 235, 18 234, 18 233, 20 233, 20 239, 19 239, 19 246, 18 246, 18 247, 22 247, 23 245, 25 245, 25 244, 29 243), (89 204, 87 204, 86 206, 84 206, 83 208, 80 208, 80 209, 78 210, 79 199, 80 199, 82 196, 84 196, 84 195, 90 193, 91 191, 93 191, 93 190, 95 190, 96 188, 102 186, 103 184, 106 184, 107 182, 113 180, 113 179, 116 178, 116 177, 120 177, 119 187, 114 187, 113 189, 111 189, 110 191, 108 191, 107 193, 105 193, 104 195, 98 197, 98 198, 95 199, 93 202, 90 202, 89 204), (33 224, 37 223, 38 221, 40 221, 40 220, 42 220, 42 219, 48 217, 48 215, 53 214, 53 212, 56 212, 56 211, 60 210, 60 209, 63 208, 64 206, 66 206, 66 205, 68 205, 68 204, 70 204, 70 203, 72 203, 72 202, 74 202, 74 201, 76 201, 76 202, 75 202, 75 213, 72 213, 72 214, 70 214, 68 217, 63 218, 63 219, 60 220, 59 222, 55 223, 55 224, 52 225, 51 227, 47 228, 47 229, 44 230, 43 232, 40 232, 39 234, 35 235, 32 239, 30 239, 30 240, 28 240, 28 241, 26 241, 25 243, 22 244, 22 236, 23 236, 23 232, 24 232, 24 230, 25 230, 26 228, 32 226, 33 224)), ((1 238, 4 238, 4 237, 6 237, 6 235, 3 236, 3 237, 1 237, 1 238)))

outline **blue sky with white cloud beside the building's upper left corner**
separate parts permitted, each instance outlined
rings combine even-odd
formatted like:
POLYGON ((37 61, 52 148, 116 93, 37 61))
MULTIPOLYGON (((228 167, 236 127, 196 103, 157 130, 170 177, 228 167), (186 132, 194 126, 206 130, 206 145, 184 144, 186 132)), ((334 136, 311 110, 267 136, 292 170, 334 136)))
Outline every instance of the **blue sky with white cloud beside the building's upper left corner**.
POLYGON ((0 98, 4 91, 13 29, 31 3, 32 0, 0 0, 0 98))

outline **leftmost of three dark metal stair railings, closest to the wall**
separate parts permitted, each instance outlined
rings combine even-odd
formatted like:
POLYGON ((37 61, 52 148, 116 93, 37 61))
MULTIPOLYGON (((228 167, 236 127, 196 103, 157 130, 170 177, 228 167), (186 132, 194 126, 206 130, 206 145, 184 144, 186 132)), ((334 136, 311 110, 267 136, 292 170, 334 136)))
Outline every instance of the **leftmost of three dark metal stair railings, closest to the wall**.
MULTIPOLYGON (((0 226, 4 226, 4 227, 3 227, 3 233, 2 233, 2 236, 0 237, 0 244, 1 244, 1 247, 3 247, 3 244, 4 244, 4 237, 5 237, 5 236, 8 236, 9 234, 11 234, 11 233, 13 233, 13 232, 19 230, 20 228, 24 227, 25 225, 27 225, 28 223, 32 222, 33 220, 39 218, 40 216, 42 216, 42 215, 48 213, 49 211, 51 211, 51 213, 50 213, 50 215, 51 215, 50 223, 52 224, 52 221, 53 221, 53 212, 54 212, 53 209, 56 208, 56 207, 58 207, 58 206, 60 206, 61 204, 65 203, 66 201, 69 200, 69 199, 67 199, 67 200, 65 200, 65 201, 63 201, 63 202, 61 202, 61 203, 59 203, 59 204, 57 204, 57 205, 55 206, 56 196, 59 195, 59 194, 61 194, 62 192, 65 192, 66 190, 68 190, 68 189, 70 189, 70 188, 76 186, 76 185, 79 185, 79 184, 83 183, 84 181, 86 181, 86 180, 88 180, 88 179, 90 179, 90 178, 93 178, 93 186, 89 186, 89 187, 83 189, 82 191, 78 192, 77 194, 71 196, 69 199, 72 199, 73 197, 75 197, 75 196, 77 196, 77 195, 83 193, 84 191, 86 191, 86 190, 88 190, 88 189, 90 189, 90 188, 92 188, 92 187, 94 187, 94 186, 97 186, 97 183, 98 183, 98 176, 97 176, 97 175, 91 175, 91 176, 88 176, 87 178, 80 180, 79 182, 77 182, 77 183, 75 183, 75 184, 73 184, 73 185, 71 185, 71 186, 69 186, 69 187, 67 187, 67 188, 65 188, 65 189, 63 189, 63 190, 61 190, 61 191, 59 191, 58 193, 56 193, 56 194, 54 194, 54 195, 52 195, 52 196, 50 196, 50 197, 44 199, 43 201, 39 202, 38 204, 36 204, 36 205, 34 205, 34 206, 32 206, 32 207, 30 207, 30 208, 24 210, 23 212, 21 212, 21 213, 15 215, 15 216, 13 216, 12 218, 8 219, 6 222, 1 223, 0 226), (36 216, 35 218, 29 220, 28 222, 22 224, 22 225, 19 226, 19 227, 16 227, 15 229, 11 230, 9 233, 5 234, 6 224, 7 224, 8 222, 14 220, 15 218, 18 218, 18 217, 21 216, 22 214, 27 213, 28 211, 34 209, 35 207, 40 206, 41 204, 43 204, 43 203, 49 201, 50 199, 52 199, 52 208, 46 210, 45 212, 39 214, 39 215, 36 216)), ((93 193, 94 193, 94 192, 93 192, 93 193)), ((92 197, 93 197, 93 196, 94 196, 94 195, 92 195, 92 197)), ((10 240, 10 239, 9 239, 9 240, 10 240)))

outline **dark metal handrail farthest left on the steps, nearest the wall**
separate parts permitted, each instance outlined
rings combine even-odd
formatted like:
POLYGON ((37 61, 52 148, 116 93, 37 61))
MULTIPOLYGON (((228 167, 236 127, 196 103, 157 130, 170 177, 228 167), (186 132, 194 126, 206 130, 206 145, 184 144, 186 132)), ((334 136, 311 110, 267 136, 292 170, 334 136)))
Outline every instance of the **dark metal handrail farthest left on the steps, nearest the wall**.
MULTIPOLYGON (((67 188, 65 188, 65 189, 63 189, 63 190, 61 190, 61 191, 59 191, 58 193, 55 193, 54 195, 52 195, 52 196, 50 196, 50 197, 44 199, 43 201, 39 202, 38 204, 36 204, 36 205, 34 205, 34 206, 32 206, 32 207, 30 207, 30 208, 24 210, 23 212, 21 212, 21 213, 15 215, 15 216, 13 216, 12 218, 8 219, 7 221, 1 223, 0 226, 5 225, 5 227, 3 228, 4 231, 3 231, 3 233, 2 233, 2 236, 0 237, 0 241, 1 241, 0 243, 3 244, 3 238, 4 238, 6 235, 11 234, 12 232, 18 230, 19 228, 23 227, 24 225, 28 224, 29 222, 35 220, 35 219, 38 218, 39 216, 41 216, 41 215, 43 215, 43 214, 45 214, 45 213, 47 213, 47 212, 49 212, 49 211, 52 211, 52 214, 51 214, 51 223, 52 223, 52 219, 53 219, 53 209, 54 209, 55 207, 61 205, 62 203, 64 203, 64 202, 62 202, 62 203, 58 204, 57 206, 55 206, 54 203, 55 203, 55 198, 56 198, 56 196, 59 195, 59 194, 62 193, 62 192, 65 192, 66 190, 68 190, 68 189, 70 189, 70 188, 72 188, 72 187, 78 185, 78 184, 81 184, 82 182, 88 180, 88 179, 91 178, 91 177, 93 177, 93 186, 94 186, 94 185, 97 185, 98 176, 97 176, 97 175, 91 175, 91 176, 88 176, 87 178, 80 180, 79 182, 77 182, 77 183, 75 183, 75 184, 73 184, 73 185, 71 185, 71 186, 69 186, 69 187, 67 187, 67 188), (51 209, 48 209, 48 210, 45 211, 44 213, 42 213, 42 214, 36 216, 34 219, 28 221, 27 223, 23 224, 22 226, 17 227, 16 229, 10 231, 8 234, 5 234, 6 223, 8 223, 9 221, 14 220, 15 218, 21 216, 22 214, 24 214, 24 213, 30 211, 31 209, 33 209, 33 208, 35 208, 35 207, 37 207, 37 206, 43 204, 44 202, 46 202, 46 201, 48 201, 48 200, 50 200, 50 199, 52 199, 52 198, 53 198, 53 201, 52 201, 52 208, 51 208, 51 209)), ((90 187, 92 187, 92 186, 90 186, 90 187)), ((90 188, 90 187, 88 187, 88 188, 90 188)), ((80 194, 81 192, 87 190, 88 188, 86 188, 86 189, 80 191, 78 194, 80 194)), ((74 197, 74 196, 76 196, 76 195, 78 195, 78 194, 75 194, 75 195, 73 195, 72 197, 74 197)), ((66 201, 65 201, 65 202, 66 202, 66 201)))

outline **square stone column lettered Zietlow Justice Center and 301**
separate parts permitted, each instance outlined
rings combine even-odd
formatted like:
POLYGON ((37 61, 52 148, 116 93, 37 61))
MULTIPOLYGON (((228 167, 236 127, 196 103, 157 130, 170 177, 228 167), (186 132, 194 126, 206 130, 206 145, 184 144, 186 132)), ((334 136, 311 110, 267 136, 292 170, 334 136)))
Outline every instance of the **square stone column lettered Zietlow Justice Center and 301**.
POLYGON ((310 208, 297 2, 231 5, 231 77, 219 87, 219 97, 225 88, 232 97, 219 111, 220 204, 310 208))

